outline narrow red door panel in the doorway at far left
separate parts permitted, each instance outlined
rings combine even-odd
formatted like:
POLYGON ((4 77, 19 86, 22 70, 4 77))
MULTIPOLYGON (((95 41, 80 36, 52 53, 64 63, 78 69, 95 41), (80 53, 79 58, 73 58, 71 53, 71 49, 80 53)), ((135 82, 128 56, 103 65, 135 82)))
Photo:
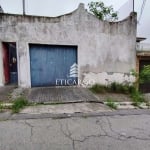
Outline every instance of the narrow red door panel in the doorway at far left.
POLYGON ((3 43, 3 68, 4 68, 5 84, 7 84, 10 81, 9 50, 5 43, 3 43))

